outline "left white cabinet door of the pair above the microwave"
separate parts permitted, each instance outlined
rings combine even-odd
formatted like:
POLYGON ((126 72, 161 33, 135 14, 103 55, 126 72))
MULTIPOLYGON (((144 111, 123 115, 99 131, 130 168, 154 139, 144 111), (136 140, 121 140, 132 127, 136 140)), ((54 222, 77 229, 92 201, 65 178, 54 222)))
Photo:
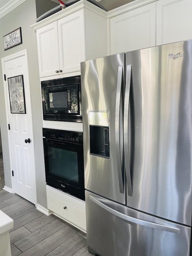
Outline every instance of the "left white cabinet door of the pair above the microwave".
POLYGON ((40 77, 57 75, 59 70, 59 45, 57 21, 37 29, 37 48, 40 77))

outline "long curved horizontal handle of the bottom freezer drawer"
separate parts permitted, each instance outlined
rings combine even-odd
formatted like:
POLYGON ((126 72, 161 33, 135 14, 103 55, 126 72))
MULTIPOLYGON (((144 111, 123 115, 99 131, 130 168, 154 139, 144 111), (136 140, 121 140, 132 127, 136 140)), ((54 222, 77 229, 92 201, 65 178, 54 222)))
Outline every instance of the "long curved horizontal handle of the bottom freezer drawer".
POLYGON ((115 216, 117 216, 117 217, 119 217, 123 220, 129 221, 129 222, 132 222, 132 223, 135 223, 135 224, 138 224, 138 225, 146 226, 146 227, 149 227, 149 228, 160 229, 160 230, 175 233, 175 234, 178 234, 178 235, 180 234, 180 229, 179 228, 173 228, 173 227, 165 226, 165 225, 162 225, 162 224, 157 224, 157 223, 154 223, 154 222, 150 222, 150 221, 146 221, 146 220, 140 220, 140 219, 128 216, 124 213, 117 212, 116 210, 110 208, 106 204, 100 202, 94 196, 90 195, 89 197, 95 204, 99 205, 104 210, 110 212, 111 214, 113 214, 113 215, 115 215, 115 216))

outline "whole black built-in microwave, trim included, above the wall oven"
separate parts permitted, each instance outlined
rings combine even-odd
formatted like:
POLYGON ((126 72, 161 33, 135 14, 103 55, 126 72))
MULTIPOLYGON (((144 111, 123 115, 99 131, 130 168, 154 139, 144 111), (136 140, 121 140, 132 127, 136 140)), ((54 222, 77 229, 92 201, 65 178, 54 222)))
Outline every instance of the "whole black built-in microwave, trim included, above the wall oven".
POLYGON ((43 119, 82 122, 81 76, 41 82, 43 119))

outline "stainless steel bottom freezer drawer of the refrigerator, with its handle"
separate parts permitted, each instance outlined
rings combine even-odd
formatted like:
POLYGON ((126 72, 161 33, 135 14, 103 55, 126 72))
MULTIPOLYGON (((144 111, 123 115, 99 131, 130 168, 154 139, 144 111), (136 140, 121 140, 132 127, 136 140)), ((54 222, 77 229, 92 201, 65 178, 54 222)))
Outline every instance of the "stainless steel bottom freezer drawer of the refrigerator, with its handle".
POLYGON ((98 254, 190 255, 191 228, 138 212, 88 191, 85 191, 85 202, 87 245, 98 254))

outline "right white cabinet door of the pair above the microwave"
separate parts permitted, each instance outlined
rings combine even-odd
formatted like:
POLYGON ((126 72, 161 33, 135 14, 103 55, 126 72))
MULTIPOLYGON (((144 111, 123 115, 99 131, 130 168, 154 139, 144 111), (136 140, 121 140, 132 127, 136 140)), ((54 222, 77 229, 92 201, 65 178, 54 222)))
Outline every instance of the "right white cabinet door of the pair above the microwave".
POLYGON ((85 60, 84 11, 58 20, 60 69, 62 73, 79 71, 85 60))

